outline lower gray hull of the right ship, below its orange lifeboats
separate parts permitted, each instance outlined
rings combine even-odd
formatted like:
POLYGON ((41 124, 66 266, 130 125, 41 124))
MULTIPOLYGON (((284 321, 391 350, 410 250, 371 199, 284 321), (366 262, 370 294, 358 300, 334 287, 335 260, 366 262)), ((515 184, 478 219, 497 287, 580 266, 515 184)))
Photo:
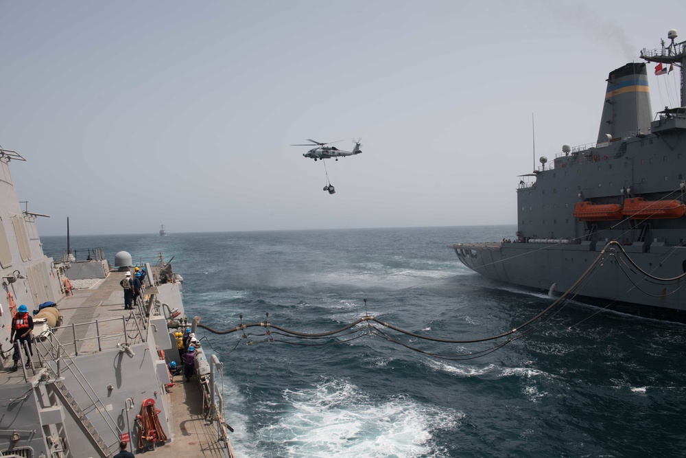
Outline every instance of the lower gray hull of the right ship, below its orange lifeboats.
MULTIPOLYGON (((605 245, 598 242, 578 245, 503 243, 453 245, 458 259, 484 277, 499 283, 536 290, 564 293, 584 275, 574 299, 641 317, 686 323, 686 290, 681 282, 648 280, 635 268, 620 260, 617 253, 606 258, 597 269, 589 267, 605 245)), ((683 273, 686 247, 623 247, 630 259, 644 271, 661 278, 683 273)), ((624 257, 626 260, 626 257, 624 257)))

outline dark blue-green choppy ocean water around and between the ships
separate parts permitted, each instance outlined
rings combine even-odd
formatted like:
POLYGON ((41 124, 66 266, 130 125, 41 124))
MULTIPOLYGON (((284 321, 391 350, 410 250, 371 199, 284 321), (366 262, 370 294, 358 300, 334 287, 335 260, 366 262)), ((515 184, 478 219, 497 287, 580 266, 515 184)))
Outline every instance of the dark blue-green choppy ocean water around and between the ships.
MULTIPOLYGON (((517 328, 554 300, 484 279, 448 248, 514 230, 170 233, 71 244, 80 257, 101 247, 110 262, 121 250, 134 262, 174 256, 187 314, 217 330, 268 319, 327 332, 370 314, 466 340, 517 328)), ((58 257, 66 239, 43 244, 58 257)), ((686 326, 599 310, 570 304, 493 352, 493 343, 427 342, 378 323, 381 336, 363 326, 305 340, 255 327, 246 336, 203 331, 202 343, 224 362, 240 457, 684 456, 686 326), (484 353, 427 354, 470 352, 484 353)))

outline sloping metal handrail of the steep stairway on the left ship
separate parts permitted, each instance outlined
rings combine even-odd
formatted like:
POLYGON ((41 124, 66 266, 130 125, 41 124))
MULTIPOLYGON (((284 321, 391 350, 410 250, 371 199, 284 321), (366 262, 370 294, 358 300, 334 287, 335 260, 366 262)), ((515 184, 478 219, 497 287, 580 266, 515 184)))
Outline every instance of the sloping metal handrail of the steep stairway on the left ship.
MULTIPOLYGON (((54 329, 55 328, 53 328, 53 330, 54 329)), ((102 400, 100 400, 97 391, 95 391, 93 385, 91 385, 88 382, 88 379, 86 378, 85 374, 74 360, 73 356, 71 356, 69 352, 65 350, 66 345, 62 345, 62 343, 60 343, 59 339, 54 334, 53 330, 41 332, 40 336, 45 337, 44 339, 34 339, 36 345, 40 345, 41 347, 43 347, 43 352, 37 352, 38 359, 40 360, 40 366, 46 367, 47 371, 49 371, 51 376, 53 378, 56 378, 57 380, 63 379, 62 373, 64 372, 64 370, 69 370, 71 372, 71 374, 74 377, 74 380, 78 382, 78 385, 86 394, 88 400, 90 400, 91 406, 95 407, 95 409, 91 409, 91 411, 97 411, 99 416, 102 417, 102 420, 105 422, 105 424, 107 424, 107 427, 112 433, 113 437, 115 437, 116 442, 114 442, 113 444, 109 444, 109 448, 110 450, 112 450, 113 446, 119 443, 119 433, 121 433, 121 431, 119 431, 119 428, 116 426, 117 422, 115 422, 112 415, 110 415, 108 409, 106 409, 105 405, 102 403, 102 400), (47 341, 50 341, 51 343, 49 347, 45 345, 47 341), (45 358, 46 355, 52 356, 51 362, 54 364, 55 367, 52 367, 49 364, 50 361, 47 360, 47 358, 45 358)), ((88 407, 82 409, 86 410, 88 409, 88 407)))

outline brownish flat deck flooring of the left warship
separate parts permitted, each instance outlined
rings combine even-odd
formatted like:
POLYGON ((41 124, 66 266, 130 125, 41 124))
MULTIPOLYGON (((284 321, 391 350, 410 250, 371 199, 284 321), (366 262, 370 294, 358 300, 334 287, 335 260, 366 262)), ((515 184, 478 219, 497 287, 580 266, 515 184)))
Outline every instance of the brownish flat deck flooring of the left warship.
MULTIPOLYGON (((87 356, 111 349, 125 341, 141 343, 141 336, 146 335, 147 320, 137 310, 123 309, 123 291, 119 286, 123 277, 123 272, 112 272, 106 279, 91 282, 92 286, 89 288, 73 290, 73 295, 64 297, 57 304, 64 321, 54 332, 54 336, 59 342, 66 343, 64 350, 74 356, 87 356), (126 329, 126 332, 123 333, 122 329, 126 329)), ((154 286, 147 287, 147 293, 155 291, 154 286)), ((6 348, 3 350, 6 351, 6 348)), ((41 376, 45 378, 45 366, 50 355, 40 343, 34 343, 33 351, 34 368, 22 367, 14 372, 8 369, 12 364, 10 354, 5 360, 5 368, 0 371, 0 385, 31 382, 35 386, 41 376)), ((23 360, 23 353, 21 356, 23 360)), ((137 374, 129 376, 137 377, 137 374)), ((226 444, 218 439, 216 427, 204 417, 202 391, 196 377, 186 383, 179 375, 174 376, 172 381, 174 385, 169 388, 168 393, 155 392, 156 397, 166 396, 169 401, 171 411, 167 415, 172 419, 169 423, 169 440, 140 450, 133 444, 134 447, 130 450, 134 453, 145 452, 146 456, 226 457, 226 444)), ((230 449, 230 445, 228 448, 230 449)))

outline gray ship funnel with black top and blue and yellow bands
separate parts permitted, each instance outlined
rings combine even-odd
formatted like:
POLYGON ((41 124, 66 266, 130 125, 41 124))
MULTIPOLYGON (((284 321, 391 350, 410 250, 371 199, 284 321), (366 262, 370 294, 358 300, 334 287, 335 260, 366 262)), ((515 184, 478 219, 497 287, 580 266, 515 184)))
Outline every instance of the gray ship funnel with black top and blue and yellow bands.
POLYGON ((610 72, 598 142, 650 131, 652 106, 646 64, 626 64, 610 72))

